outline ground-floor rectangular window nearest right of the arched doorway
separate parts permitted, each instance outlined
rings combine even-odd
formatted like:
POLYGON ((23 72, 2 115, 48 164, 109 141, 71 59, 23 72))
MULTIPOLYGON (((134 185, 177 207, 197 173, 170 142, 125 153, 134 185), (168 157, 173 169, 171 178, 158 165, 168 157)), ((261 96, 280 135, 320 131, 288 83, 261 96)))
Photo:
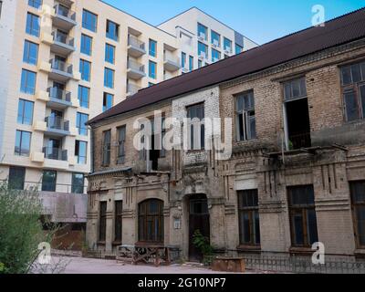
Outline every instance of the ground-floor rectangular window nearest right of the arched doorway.
POLYGON ((257 190, 238 192, 240 245, 260 245, 257 190))

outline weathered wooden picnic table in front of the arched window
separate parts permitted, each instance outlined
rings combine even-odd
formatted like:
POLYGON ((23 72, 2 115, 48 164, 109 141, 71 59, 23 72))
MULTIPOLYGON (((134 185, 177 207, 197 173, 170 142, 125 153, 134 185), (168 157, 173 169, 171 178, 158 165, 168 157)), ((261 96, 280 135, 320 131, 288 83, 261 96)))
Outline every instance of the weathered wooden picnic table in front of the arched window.
POLYGON ((172 262, 172 252, 176 250, 178 250, 177 246, 149 243, 120 245, 118 246, 117 260, 128 261, 132 265, 138 265, 138 263, 153 263, 155 266, 160 266, 162 263, 170 265, 172 262))

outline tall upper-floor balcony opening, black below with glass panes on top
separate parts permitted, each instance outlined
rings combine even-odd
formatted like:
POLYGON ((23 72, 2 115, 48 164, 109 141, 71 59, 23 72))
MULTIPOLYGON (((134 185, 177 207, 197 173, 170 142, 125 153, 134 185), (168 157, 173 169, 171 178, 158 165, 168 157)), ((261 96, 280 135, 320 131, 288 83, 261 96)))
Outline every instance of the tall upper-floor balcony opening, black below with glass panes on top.
POLYGON ((287 150, 310 147, 306 79, 298 78, 284 83, 284 100, 287 150))

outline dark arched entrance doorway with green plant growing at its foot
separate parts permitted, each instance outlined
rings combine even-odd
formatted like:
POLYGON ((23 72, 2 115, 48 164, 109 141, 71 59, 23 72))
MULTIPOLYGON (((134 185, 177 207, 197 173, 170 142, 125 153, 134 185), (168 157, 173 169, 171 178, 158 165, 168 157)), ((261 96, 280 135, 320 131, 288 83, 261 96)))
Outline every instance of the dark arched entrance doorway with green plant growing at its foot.
POLYGON ((202 252, 193 245, 193 234, 196 230, 210 240, 210 223, 208 200, 205 194, 193 195, 189 198, 189 259, 201 261, 202 252))

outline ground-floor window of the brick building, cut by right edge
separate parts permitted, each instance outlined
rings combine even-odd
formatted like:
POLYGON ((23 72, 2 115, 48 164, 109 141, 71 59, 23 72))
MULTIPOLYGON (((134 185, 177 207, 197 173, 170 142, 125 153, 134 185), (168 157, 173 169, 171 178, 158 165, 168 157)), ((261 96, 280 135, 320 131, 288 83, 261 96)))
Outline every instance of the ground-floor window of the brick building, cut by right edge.
POLYGON ((365 248, 365 181, 350 182, 352 213, 355 223, 356 244, 365 248))

